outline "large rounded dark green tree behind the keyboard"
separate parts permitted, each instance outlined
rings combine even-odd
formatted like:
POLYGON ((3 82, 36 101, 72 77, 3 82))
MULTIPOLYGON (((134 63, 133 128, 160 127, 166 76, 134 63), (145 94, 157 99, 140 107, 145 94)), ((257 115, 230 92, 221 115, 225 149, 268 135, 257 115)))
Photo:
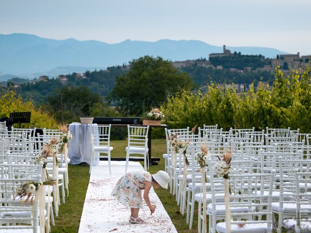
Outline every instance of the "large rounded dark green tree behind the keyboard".
POLYGON ((192 78, 178 72, 171 62, 144 56, 131 62, 127 74, 116 77, 109 100, 115 101, 122 114, 140 116, 143 105, 159 106, 168 95, 190 87, 192 78))

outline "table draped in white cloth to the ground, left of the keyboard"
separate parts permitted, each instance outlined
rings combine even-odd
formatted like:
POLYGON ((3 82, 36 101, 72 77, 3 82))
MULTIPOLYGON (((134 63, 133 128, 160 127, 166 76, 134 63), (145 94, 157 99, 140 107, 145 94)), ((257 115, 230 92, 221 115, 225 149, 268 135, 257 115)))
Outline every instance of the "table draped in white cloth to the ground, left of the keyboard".
MULTIPOLYGON (((68 157, 69 164, 87 163, 91 161, 91 134, 94 135, 94 145, 99 145, 99 130, 97 124, 71 123, 68 130, 72 134, 72 140, 69 140, 68 157)), ((98 152, 94 152, 98 153, 98 152)), ((99 156, 94 154, 94 165, 99 162, 99 156)))

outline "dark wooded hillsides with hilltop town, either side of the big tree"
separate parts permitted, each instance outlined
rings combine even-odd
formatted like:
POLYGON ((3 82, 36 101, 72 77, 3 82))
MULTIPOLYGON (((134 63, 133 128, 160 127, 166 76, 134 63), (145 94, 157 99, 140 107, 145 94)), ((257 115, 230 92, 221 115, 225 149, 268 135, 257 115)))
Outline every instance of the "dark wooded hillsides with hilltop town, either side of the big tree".
MULTIPOLYGON (((211 77, 210 81, 218 83, 221 88, 234 88, 238 92, 246 91, 250 88, 254 81, 256 85, 264 85, 266 88, 272 84, 273 74, 276 66, 280 66, 283 73, 290 72, 291 68, 304 68, 311 60, 311 55, 300 56, 299 52, 296 54, 278 54, 276 58, 265 58, 262 55, 242 55, 241 52, 231 52, 223 46, 222 53, 210 53, 206 58, 186 61, 172 61, 173 67, 180 69, 183 72, 189 73, 194 78, 197 85, 206 85, 208 83, 207 77, 211 77), (197 71, 196 69, 200 69, 197 71), (216 75, 217 74, 217 75, 216 75), (216 77, 217 76, 217 77, 216 77), (261 81, 260 83, 258 83, 261 81)), ((41 82, 48 82, 54 80, 62 85, 75 85, 84 83, 86 85, 94 85, 99 83, 104 85, 102 94, 108 93, 113 85, 106 88, 105 80, 114 83, 112 80, 115 75, 120 75, 123 72, 130 70, 130 65, 123 64, 122 66, 108 67, 106 70, 100 71, 86 71, 84 73, 61 74, 52 79, 46 75, 40 76, 34 80, 20 80, 18 78, 8 81, 16 89, 38 89, 42 86, 41 82), (92 77, 94 76, 94 77, 92 77), (103 79, 103 80, 101 80, 103 79)), ((2 87, 7 86, 7 83, 1 83, 2 87)), ((96 88, 94 87, 94 90, 96 88)), ((97 88, 98 89, 98 88, 97 88)))

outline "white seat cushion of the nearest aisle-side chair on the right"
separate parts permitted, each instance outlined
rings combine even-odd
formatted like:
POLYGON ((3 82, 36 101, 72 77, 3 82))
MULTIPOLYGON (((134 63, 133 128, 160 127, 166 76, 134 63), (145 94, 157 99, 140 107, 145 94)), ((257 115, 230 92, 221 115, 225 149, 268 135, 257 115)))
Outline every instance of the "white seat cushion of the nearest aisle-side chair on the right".
MULTIPOLYGON (((226 233, 225 222, 217 223, 216 231, 218 233, 226 233)), ((237 224, 231 224, 231 233, 266 233, 267 223, 250 223, 239 227, 237 224)))

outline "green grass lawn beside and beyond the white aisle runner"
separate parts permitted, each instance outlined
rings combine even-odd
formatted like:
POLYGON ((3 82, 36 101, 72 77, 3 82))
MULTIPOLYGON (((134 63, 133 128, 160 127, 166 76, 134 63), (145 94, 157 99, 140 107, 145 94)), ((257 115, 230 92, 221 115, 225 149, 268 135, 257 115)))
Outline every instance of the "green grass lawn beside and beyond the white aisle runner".
MULTIPOLYGON (((112 157, 125 157, 126 140, 111 141, 111 146, 114 148, 111 152, 112 157)), ((164 170, 162 154, 165 152, 165 139, 153 139, 152 156, 160 157, 161 161, 159 165, 149 167, 150 173, 153 174, 158 170, 164 170)), ((86 197, 86 189, 89 182, 88 169, 88 166, 69 165, 69 196, 66 197, 66 203, 60 205, 58 217, 55 218, 55 227, 52 227, 52 233, 78 232, 86 197)), ((194 213, 193 229, 189 230, 186 224, 186 214, 184 216, 180 214, 179 206, 177 206, 175 197, 170 194, 170 191, 166 189, 156 189, 155 192, 171 217, 178 233, 197 232, 197 213, 194 213)))

